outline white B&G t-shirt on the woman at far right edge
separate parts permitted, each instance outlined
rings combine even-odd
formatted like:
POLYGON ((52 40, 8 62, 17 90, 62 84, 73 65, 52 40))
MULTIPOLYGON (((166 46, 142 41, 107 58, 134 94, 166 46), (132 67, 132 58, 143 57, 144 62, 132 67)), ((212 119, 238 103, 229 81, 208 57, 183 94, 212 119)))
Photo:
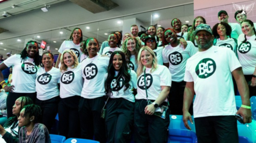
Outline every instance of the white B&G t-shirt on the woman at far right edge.
POLYGON ((256 36, 246 36, 247 41, 244 41, 244 34, 239 35, 237 42, 238 59, 242 65, 244 75, 253 75, 256 67, 256 36))

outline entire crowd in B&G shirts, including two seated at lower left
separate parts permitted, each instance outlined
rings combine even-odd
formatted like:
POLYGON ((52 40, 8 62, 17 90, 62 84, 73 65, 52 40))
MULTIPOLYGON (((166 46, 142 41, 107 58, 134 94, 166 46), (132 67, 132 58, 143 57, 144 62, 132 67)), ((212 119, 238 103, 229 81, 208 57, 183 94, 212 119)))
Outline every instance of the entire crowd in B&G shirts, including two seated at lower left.
POLYGON ((0 73, 9 92, 0 134, 7 143, 48 143, 58 113, 66 138, 128 143, 134 133, 136 143, 166 143, 172 114, 183 115, 188 129, 194 115, 199 143, 238 143, 235 114, 250 123, 249 98, 256 95, 256 31, 242 12, 235 14, 241 25, 228 23, 226 11, 213 28, 201 16, 190 29, 177 18, 172 28, 139 32, 131 25, 131 34, 111 33, 101 47, 74 28, 55 67, 52 53, 40 58, 38 43, 29 41, 0 64, 13 68, 10 85, 0 73), (242 99, 238 111, 233 84, 242 99))

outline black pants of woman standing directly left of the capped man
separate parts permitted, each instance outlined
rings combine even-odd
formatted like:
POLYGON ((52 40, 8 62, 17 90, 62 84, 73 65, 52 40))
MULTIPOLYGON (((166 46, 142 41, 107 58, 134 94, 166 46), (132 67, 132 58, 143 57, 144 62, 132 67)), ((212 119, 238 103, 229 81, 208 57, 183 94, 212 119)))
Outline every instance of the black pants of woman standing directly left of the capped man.
MULTIPOLYGON (((183 115, 183 95, 185 90, 186 82, 175 82, 172 81, 172 87, 170 89, 168 100, 169 100, 169 109, 172 115, 183 115)), ((193 103, 189 108, 189 113, 193 115, 193 103)))

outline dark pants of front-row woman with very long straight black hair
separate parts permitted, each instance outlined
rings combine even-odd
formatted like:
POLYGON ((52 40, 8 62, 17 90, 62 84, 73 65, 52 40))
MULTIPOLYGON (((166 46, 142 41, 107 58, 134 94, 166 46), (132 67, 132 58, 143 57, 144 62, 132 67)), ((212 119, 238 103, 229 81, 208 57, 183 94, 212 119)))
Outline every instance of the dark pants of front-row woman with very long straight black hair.
POLYGON ((134 104, 124 98, 108 100, 105 120, 108 143, 130 143, 134 104))

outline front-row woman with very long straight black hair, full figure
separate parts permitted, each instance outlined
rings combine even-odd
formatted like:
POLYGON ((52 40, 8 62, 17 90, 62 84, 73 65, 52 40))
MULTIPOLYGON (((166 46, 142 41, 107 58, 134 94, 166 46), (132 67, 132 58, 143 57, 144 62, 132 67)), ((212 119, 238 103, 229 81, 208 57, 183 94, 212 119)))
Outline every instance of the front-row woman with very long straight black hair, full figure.
POLYGON ((129 143, 131 138, 137 74, 128 69, 127 64, 122 51, 111 54, 105 81, 105 93, 109 98, 106 103, 108 143, 129 143))

